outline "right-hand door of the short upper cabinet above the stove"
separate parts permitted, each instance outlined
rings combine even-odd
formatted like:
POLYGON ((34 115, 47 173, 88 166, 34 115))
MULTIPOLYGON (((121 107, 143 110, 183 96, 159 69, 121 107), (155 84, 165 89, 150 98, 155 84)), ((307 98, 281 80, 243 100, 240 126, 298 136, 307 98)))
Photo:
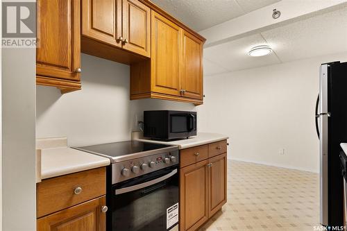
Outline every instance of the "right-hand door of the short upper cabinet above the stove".
POLYGON ((151 9, 138 0, 123 0, 123 48, 140 55, 151 54, 151 9))

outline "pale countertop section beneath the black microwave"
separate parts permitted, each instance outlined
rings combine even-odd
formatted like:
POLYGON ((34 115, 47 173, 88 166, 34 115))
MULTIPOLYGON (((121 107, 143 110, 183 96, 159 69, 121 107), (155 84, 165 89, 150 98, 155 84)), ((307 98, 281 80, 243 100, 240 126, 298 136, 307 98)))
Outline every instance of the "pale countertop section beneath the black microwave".
POLYGON ((194 137, 189 137, 188 139, 178 139, 178 140, 169 141, 169 142, 153 140, 150 138, 141 137, 141 135, 142 133, 140 132, 133 132, 133 139, 142 141, 142 142, 178 146, 178 148, 180 149, 191 148, 194 146, 199 146, 203 144, 219 142, 224 139, 229 139, 227 135, 222 135, 217 133, 208 133, 208 132, 198 132, 197 135, 194 137))

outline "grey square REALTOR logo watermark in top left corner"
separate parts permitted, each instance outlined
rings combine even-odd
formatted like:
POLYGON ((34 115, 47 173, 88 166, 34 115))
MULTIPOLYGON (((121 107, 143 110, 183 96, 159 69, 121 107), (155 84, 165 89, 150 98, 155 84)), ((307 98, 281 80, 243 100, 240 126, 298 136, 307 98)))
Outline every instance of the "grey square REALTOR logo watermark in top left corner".
POLYGON ((35 48, 36 3, 32 1, 2 1, 3 48, 35 48))

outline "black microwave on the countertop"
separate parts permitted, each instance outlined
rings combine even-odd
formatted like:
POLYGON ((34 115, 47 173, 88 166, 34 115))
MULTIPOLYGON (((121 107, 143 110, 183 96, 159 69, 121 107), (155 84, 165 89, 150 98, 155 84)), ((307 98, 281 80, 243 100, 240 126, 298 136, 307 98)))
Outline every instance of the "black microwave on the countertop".
POLYGON ((196 112, 144 111, 144 137, 178 139, 196 135, 196 112))

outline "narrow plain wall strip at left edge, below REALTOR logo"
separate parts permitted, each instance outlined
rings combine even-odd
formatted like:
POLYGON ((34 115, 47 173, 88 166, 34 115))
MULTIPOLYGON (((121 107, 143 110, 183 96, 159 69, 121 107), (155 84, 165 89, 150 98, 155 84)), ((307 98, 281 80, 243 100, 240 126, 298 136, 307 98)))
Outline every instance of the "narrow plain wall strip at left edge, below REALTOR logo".
POLYGON ((2 49, 2 229, 36 230, 35 49, 2 49))

